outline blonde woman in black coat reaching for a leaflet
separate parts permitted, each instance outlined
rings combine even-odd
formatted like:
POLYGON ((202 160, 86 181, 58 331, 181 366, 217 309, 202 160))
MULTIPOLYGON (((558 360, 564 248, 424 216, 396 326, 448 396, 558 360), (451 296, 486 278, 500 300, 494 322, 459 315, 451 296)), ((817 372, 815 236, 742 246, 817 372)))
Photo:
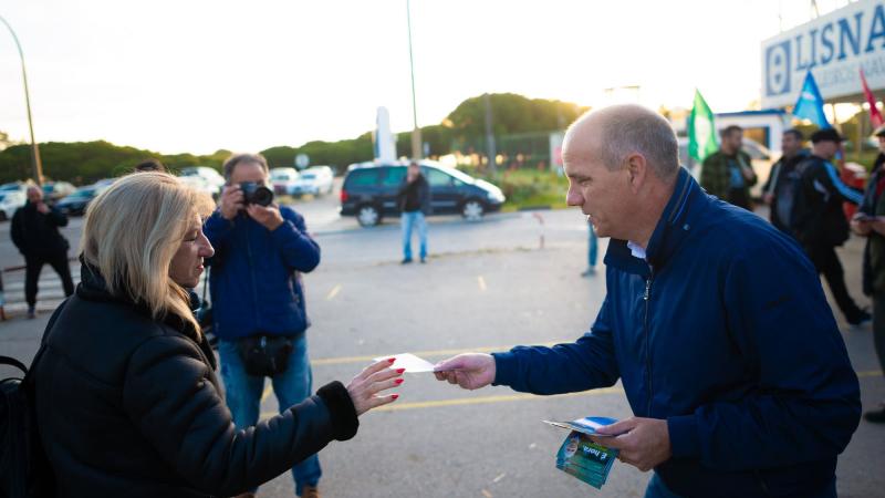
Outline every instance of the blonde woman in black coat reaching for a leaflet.
POLYGON ((238 430, 189 308, 214 250, 208 197, 162 173, 118 179, 88 207, 82 282, 34 361, 38 426, 60 497, 231 496, 288 470, 396 400, 388 361, 238 430))

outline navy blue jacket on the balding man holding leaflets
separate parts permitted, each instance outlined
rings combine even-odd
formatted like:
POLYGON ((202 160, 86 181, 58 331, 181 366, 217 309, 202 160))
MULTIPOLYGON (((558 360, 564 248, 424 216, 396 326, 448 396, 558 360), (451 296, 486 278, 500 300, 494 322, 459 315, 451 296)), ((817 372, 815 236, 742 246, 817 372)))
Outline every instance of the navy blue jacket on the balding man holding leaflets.
POLYGON ((612 240, 591 331, 496 353, 496 384, 559 394, 620 378, 635 416, 667 421, 673 457, 655 470, 681 496, 804 497, 832 483, 860 386, 802 249, 683 169, 646 258, 612 240))

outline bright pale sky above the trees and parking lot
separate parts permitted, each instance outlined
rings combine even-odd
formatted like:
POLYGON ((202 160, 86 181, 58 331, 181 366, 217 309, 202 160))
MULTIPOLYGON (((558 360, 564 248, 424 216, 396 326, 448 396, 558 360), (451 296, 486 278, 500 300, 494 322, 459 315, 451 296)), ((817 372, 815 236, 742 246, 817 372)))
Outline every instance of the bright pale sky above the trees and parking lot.
MULTIPOLYGON (((819 0, 824 14, 847 0, 819 0)), ((808 0, 412 0, 419 126, 513 92, 716 112, 759 98, 761 42, 808 0), (610 91, 638 85, 638 92, 610 91), (612 95, 615 96, 612 96, 612 95)), ((38 142, 165 154, 353 138, 378 106, 413 127, 406 0, 0 0, 24 51, 38 142)), ((29 139, 0 24, 0 131, 29 139)))

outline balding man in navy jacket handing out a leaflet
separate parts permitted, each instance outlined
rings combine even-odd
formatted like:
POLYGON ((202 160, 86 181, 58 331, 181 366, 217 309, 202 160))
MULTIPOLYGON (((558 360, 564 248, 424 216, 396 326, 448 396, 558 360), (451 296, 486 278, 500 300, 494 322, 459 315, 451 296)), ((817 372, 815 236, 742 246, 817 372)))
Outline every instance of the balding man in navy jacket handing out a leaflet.
POLYGON ((612 238, 596 321, 574 343, 455 356, 437 378, 541 395, 620 380, 634 416, 595 439, 655 470, 648 498, 835 497, 860 388, 801 248, 705 194, 644 107, 584 115, 563 158, 569 205, 612 238))

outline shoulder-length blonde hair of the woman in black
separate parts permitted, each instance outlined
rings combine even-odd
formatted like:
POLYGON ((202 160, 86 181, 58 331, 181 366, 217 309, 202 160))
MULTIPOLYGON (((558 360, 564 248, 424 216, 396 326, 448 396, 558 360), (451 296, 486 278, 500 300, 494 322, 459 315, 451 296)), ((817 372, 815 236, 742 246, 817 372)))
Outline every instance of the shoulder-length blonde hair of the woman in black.
POLYGON ((171 175, 134 173, 90 203, 80 250, 112 295, 147 307, 155 320, 178 315, 199 334, 188 292, 169 278, 169 266, 195 216, 212 209, 208 195, 171 175))

